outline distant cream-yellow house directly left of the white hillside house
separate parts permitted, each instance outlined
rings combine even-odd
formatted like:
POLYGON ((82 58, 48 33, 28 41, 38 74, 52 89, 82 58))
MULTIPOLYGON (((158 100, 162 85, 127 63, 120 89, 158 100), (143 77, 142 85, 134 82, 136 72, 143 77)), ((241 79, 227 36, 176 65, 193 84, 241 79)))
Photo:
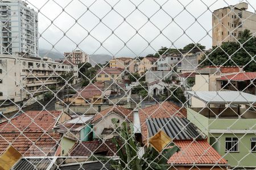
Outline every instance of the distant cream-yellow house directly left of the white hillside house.
POLYGON ((157 61, 159 58, 157 57, 144 57, 140 62, 138 66, 138 73, 139 75, 144 74, 146 71, 157 71, 157 61))

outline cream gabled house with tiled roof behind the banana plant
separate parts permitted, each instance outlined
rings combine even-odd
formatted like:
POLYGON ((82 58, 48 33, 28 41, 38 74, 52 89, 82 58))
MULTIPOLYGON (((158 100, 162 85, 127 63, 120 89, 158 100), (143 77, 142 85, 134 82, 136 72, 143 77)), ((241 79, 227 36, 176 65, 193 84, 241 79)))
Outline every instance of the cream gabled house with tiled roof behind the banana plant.
POLYGON ((117 118, 120 123, 123 121, 133 122, 133 111, 114 105, 96 114, 91 122, 93 125, 93 138, 109 139, 118 135, 113 133, 115 128, 112 124, 113 118, 117 118))

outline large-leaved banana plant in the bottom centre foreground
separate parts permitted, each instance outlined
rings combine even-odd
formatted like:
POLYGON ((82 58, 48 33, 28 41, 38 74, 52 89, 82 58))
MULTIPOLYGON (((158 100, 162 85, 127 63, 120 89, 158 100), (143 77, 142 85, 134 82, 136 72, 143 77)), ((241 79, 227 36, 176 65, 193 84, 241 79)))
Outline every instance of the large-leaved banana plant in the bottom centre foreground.
POLYGON ((142 158, 139 157, 139 143, 135 141, 133 126, 130 129, 127 126, 127 122, 123 122, 121 126, 117 123, 116 118, 112 119, 113 124, 120 135, 119 142, 117 139, 112 138, 113 143, 117 147, 117 155, 119 160, 113 158, 107 158, 105 156, 93 155, 90 160, 101 160, 102 162, 109 162, 116 170, 123 169, 169 169, 170 165, 167 164, 168 159, 171 158, 176 152, 179 151, 179 147, 171 143, 168 148, 165 148, 161 154, 153 147, 148 146, 145 154, 142 158), (120 145, 121 143, 121 145, 120 145))

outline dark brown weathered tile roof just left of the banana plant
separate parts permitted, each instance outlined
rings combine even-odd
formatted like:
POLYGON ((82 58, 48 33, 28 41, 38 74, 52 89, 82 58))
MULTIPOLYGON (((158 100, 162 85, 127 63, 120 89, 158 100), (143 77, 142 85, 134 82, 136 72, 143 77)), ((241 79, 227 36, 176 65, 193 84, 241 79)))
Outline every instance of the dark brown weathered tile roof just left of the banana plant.
POLYGON ((114 156, 117 152, 117 147, 112 142, 111 139, 106 140, 105 143, 101 141, 89 141, 76 143, 73 148, 71 148, 71 156, 90 156, 94 155, 105 155, 114 156))

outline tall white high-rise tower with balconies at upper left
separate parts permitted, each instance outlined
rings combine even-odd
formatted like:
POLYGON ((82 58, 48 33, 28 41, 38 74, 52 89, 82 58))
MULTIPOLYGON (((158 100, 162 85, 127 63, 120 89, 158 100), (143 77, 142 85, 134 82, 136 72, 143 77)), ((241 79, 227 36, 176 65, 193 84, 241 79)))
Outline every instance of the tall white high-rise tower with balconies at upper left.
POLYGON ((38 12, 21 0, 0 1, 1 54, 38 56, 38 12))

